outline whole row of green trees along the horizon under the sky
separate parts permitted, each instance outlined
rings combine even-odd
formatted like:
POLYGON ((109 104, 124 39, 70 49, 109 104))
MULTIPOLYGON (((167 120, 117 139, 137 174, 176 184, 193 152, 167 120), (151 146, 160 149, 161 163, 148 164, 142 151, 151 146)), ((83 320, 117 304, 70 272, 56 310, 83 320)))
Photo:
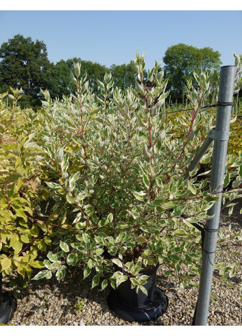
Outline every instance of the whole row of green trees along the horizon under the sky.
MULTIPOLYGON (((165 63, 163 69, 165 78, 169 78, 167 89, 171 90, 171 100, 182 102, 186 80, 193 77, 193 71, 213 70, 212 85, 216 86, 221 65, 221 54, 210 47, 199 49, 192 45, 178 43, 172 45, 162 58, 165 63)), ((134 87, 136 71, 132 63, 106 67, 90 60, 73 57, 68 60, 61 59, 54 64, 50 62, 47 47, 43 41, 32 41, 21 34, 10 38, 0 47, 0 93, 9 91, 10 87, 20 89, 24 96, 20 100, 23 108, 41 107, 42 93, 40 89, 48 89, 51 98, 62 99, 75 91, 71 82, 70 71, 73 62, 82 63, 81 74, 87 74, 90 88, 99 92, 97 80, 103 80, 106 72, 112 74, 114 88, 134 87)), ((147 76, 147 71, 145 71, 147 76)))

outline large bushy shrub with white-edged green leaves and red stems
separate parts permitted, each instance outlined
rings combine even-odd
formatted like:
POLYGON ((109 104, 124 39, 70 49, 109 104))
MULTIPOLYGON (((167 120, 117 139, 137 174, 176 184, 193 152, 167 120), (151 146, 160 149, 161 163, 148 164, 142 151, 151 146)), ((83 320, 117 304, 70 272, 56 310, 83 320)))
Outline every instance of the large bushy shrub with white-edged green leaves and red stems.
MULTIPOLYGON (((146 293, 147 276, 141 271, 157 264, 181 288, 193 286, 199 275, 201 234, 193 224, 205 223, 217 194, 210 192, 209 175, 194 176, 198 168, 188 179, 184 174, 213 126, 213 116, 202 110, 210 74, 195 74, 195 87, 188 82, 192 110, 171 122, 164 113, 169 92, 160 64, 147 71, 146 80, 144 57, 137 53, 132 66, 134 89, 113 89, 106 73, 94 96, 77 63, 71 73, 75 94, 52 101, 43 92, 46 122, 33 146, 42 150, 41 164, 49 169, 41 188, 49 193, 55 233, 46 269, 34 279, 56 273, 60 280, 66 267, 81 264, 84 278, 93 277, 92 287, 104 289, 109 282, 116 288, 130 278, 132 288, 146 293), (176 137, 179 124, 184 135, 176 137)), ((207 163, 211 155, 208 150, 207 163)), ((237 174, 237 183, 225 194, 228 199, 239 197, 242 173, 236 161, 232 175, 237 174)), ((228 172, 226 185, 232 175, 228 172)), ((235 266, 226 271, 234 274, 235 266)))

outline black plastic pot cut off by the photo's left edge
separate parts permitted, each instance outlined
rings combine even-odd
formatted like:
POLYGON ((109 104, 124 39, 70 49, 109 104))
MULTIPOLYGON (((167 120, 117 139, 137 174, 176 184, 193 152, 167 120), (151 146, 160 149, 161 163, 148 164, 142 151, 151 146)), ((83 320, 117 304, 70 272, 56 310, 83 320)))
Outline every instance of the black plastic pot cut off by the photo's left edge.
POLYGON ((6 324, 16 311, 16 300, 7 293, 3 293, 2 276, 0 273, 0 324, 6 324))

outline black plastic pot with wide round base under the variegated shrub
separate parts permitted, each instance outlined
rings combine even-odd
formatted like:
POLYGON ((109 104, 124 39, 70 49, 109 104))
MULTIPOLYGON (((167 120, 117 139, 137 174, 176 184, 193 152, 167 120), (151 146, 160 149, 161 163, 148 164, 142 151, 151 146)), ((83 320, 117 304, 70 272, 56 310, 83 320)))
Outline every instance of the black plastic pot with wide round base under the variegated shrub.
POLYGON ((168 305, 167 297, 155 284, 158 266, 142 272, 149 276, 144 285, 147 295, 142 291, 136 293, 135 289, 131 289, 129 279, 111 291, 108 295, 108 307, 114 315, 125 321, 147 322, 165 313, 168 305))

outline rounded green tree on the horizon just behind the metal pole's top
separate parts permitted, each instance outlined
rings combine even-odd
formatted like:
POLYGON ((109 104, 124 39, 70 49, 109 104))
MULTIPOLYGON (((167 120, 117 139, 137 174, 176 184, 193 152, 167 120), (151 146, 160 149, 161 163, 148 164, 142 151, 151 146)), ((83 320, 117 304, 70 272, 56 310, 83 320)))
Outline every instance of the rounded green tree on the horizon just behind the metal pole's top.
POLYGON ((167 89, 171 89, 171 99, 182 101, 182 94, 186 80, 193 79, 193 71, 214 70, 211 85, 216 86, 220 69, 221 54, 210 47, 199 49, 193 45, 171 45, 165 52, 165 76, 169 77, 167 89))

